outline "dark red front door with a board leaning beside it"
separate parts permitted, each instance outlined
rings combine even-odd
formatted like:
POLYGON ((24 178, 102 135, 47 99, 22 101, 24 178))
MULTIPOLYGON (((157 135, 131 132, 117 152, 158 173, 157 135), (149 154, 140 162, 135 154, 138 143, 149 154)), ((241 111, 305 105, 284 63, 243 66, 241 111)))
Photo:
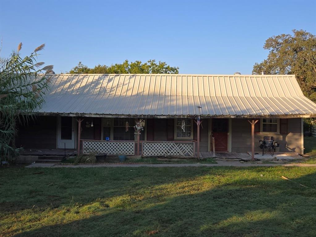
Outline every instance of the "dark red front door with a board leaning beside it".
POLYGON ((228 119, 212 119, 212 136, 215 151, 228 151, 228 119))

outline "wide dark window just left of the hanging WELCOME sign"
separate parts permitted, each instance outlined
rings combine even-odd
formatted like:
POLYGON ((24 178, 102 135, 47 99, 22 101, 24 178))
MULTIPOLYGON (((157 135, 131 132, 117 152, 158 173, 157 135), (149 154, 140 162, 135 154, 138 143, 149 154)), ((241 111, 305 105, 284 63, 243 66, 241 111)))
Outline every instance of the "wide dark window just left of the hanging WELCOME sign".
POLYGON ((113 120, 113 140, 135 140, 133 118, 114 118, 113 120), (126 122, 128 122, 128 131, 126 132, 126 122))

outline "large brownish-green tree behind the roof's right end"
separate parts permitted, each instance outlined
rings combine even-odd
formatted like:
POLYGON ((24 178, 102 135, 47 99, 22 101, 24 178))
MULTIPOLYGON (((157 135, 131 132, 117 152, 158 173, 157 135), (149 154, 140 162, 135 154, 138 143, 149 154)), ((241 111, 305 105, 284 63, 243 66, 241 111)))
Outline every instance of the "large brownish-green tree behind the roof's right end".
POLYGON ((295 74, 307 98, 316 101, 316 36, 304 30, 272 36, 265 41, 268 58, 255 63, 252 74, 295 74))

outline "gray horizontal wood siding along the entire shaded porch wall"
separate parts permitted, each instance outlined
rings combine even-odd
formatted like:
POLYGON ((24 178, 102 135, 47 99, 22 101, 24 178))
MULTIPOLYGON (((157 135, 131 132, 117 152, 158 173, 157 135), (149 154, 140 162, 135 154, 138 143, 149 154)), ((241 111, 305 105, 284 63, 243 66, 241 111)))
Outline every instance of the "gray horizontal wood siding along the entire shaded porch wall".
MULTIPOLYGON (((85 118, 82 122, 81 139, 101 138, 101 118, 93 118, 94 127, 85 127, 86 121, 91 122, 92 118, 85 118)), ((148 119, 149 120, 149 119, 148 119)), ((147 129, 147 140, 173 141, 174 140, 174 119, 150 119, 147 129)), ((208 119, 202 119, 203 128, 200 129, 200 151, 208 151, 208 119)), ((231 151, 247 152, 251 149, 251 127, 247 119, 232 119, 231 124, 231 151)), ((75 129, 78 125, 75 124, 75 129)), ((56 149, 57 140, 57 117, 38 116, 30 120, 27 126, 18 126, 19 133, 15 144, 17 147, 26 149, 56 149)), ((280 151, 295 151, 301 153, 301 118, 290 118, 280 120, 280 132, 255 133, 255 150, 260 151, 259 140, 264 136, 274 136, 280 143, 280 151)), ((193 122, 193 139, 197 139, 197 125, 193 122)), ((195 143, 196 144, 196 143, 195 143)), ((196 144, 197 145, 197 144, 196 144)), ((196 147, 197 148, 197 147, 196 147)))

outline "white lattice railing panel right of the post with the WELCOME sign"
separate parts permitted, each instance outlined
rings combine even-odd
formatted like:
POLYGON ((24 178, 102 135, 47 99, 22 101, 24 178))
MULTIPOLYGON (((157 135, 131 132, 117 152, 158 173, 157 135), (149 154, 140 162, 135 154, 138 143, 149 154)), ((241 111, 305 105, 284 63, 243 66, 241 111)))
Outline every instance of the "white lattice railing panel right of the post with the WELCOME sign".
POLYGON ((143 156, 194 156, 194 142, 144 141, 143 156))

